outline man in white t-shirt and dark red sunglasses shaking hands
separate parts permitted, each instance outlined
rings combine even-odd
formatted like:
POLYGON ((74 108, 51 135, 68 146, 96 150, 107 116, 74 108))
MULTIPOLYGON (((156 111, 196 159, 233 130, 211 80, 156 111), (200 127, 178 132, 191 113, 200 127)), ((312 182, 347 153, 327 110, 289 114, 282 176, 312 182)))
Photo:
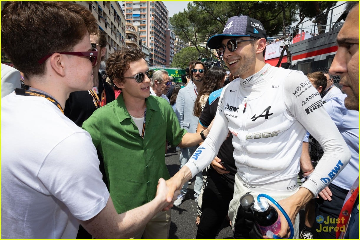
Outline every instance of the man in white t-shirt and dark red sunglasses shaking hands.
POLYGON ((153 201, 114 209, 89 133, 64 116, 69 94, 93 86, 96 19, 71 2, 7 2, 1 48, 29 89, 1 99, 1 237, 126 238, 168 209, 165 180, 153 201))

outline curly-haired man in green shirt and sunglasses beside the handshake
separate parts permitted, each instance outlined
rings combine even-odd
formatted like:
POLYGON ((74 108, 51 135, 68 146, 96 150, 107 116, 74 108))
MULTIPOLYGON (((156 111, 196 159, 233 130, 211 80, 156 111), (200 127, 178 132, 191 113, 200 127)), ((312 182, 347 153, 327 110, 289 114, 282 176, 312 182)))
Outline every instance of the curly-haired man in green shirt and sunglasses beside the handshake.
MULTIPOLYGON (((122 93, 82 125, 103 156, 110 196, 118 213, 154 199, 159 178, 170 178, 165 164, 166 140, 172 146, 189 147, 202 142, 208 133, 186 132, 171 105, 150 95, 153 70, 144 58, 135 48, 112 53, 106 71, 114 89, 122 93)), ((166 239, 170 222, 170 210, 160 212, 134 238, 166 239)))

